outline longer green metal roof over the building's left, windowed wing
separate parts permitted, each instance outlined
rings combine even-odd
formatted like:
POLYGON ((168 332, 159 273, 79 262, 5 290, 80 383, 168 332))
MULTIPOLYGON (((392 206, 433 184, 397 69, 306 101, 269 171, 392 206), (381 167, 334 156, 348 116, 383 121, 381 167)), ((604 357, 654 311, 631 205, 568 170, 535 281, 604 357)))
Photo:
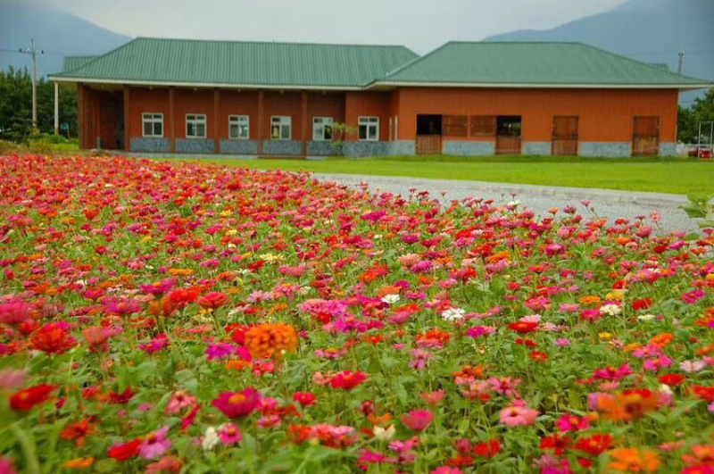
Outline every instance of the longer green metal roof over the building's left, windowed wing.
POLYGON ((362 87, 417 57, 404 46, 138 37, 54 80, 255 87, 362 87))

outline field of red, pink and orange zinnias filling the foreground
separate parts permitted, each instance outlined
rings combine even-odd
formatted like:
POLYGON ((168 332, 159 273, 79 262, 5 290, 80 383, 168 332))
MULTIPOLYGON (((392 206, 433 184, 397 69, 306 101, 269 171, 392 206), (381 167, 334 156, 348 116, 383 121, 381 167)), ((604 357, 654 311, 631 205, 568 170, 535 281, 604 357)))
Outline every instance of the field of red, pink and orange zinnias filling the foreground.
POLYGON ((0 473, 714 472, 711 233, 439 197, 0 157, 0 473))

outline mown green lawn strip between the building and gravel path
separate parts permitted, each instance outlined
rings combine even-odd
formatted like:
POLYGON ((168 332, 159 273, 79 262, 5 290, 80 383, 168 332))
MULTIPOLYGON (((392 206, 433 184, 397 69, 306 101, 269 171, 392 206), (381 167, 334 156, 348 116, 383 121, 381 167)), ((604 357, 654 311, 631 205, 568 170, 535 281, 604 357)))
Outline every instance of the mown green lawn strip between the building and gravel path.
POLYGON ((328 160, 206 160, 258 170, 305 170, 413 178, 469 179, 565 187, 603 187, 672 194, 714 193, 714 162, 681 158, 553 158, 491 156, 386 157, 328 160))

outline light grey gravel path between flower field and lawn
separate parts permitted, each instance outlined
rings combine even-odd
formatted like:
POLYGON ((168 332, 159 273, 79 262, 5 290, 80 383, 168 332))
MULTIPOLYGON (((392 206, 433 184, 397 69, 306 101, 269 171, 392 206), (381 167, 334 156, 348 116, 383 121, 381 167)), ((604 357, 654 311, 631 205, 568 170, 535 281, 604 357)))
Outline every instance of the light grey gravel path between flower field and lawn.
POLYGON ((595 212, 608 218, 610 224, 618 218, 634 220, 635 216, 660 215, 660 233, 670 231, 698 232, 696 223, 690 220, 679 206, 686 204, 684 195, 661 193, 640 193, 609 189, 587 189, 582 187, 546 187, 516 185, 507 183, 486 183, 482 181, 461 181, 451 179, 399 178, 392 176, 367 176, 351 174, 313 173, 317 179, 334 181, 338 184, 355 187, 361 183, 369 184, 372 192, 386 191, 409 195, 410 188, 428 191, 436 198, 441 198, 445 191, 444 202, 465 197, 484 197, 496 202, 507 203, 519 200, 536 214, 544 216, 550 207, 571 204, 578 212, 587 215, 581 201, 590 201, 595 212), (515 198, 511 196, 515 194, 515 198))

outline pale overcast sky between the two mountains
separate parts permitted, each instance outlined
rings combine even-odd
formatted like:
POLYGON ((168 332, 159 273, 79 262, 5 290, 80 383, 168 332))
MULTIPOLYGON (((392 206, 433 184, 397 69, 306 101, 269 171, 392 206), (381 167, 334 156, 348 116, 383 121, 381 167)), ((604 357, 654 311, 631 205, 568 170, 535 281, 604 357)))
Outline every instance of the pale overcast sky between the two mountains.
MULTIPOLYGON (((0 0, 8 1, 8 0, 0 0)), ((548 29, 625 0, 23 0, 132 37, 383 43, 426 53, 449 39, 548 29)))

